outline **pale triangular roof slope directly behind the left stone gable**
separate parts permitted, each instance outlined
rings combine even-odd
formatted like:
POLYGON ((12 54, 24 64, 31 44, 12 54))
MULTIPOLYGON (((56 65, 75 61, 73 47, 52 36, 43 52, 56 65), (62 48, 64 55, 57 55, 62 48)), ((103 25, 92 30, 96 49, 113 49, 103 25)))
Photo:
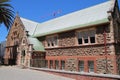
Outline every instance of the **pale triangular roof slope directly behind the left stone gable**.
POLYGON ((20 19, 21 19, 26 31, 29 31, 28 34, 32 36, 37 24, 39 24, 39 23, 22 18, 22 17, 20 17, 20 19))

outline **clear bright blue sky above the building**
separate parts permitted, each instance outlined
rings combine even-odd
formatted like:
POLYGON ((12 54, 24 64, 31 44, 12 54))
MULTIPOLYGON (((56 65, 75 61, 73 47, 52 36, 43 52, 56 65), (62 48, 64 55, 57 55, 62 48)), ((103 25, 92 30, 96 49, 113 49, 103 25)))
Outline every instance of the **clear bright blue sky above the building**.
MULTIPOLYGON (((10 4, 19 16, 36 22, 44 22, 105 1, 107 0, 11 0, 10 4), (58 14, 53 16, 55 12, 58 14)), ((120 3, 120 0, 118 2, 120 3)), ((6 39, 7 33, 4 25, 0 25, 0 42, 6 39)))

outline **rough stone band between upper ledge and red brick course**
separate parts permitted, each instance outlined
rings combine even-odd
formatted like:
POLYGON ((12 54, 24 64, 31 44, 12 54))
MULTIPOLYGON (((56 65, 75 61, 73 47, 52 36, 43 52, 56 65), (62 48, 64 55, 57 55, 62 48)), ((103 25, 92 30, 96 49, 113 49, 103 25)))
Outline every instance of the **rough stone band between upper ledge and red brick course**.
MULTIPOLYGON (((114 54, 114 46, 107 45, 108 54, 114 54)), ((91 46, 73 46, 64 48, 46 49, 46 56, 99 56, 104 55, 104 45, 91 46)))

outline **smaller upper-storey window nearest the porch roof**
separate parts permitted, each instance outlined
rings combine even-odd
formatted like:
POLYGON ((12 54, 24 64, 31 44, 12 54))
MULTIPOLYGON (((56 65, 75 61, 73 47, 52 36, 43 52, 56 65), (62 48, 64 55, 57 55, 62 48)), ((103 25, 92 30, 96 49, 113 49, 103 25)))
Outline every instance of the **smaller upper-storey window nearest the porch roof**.
POLYGON ((55 47, 58 45, 57 43, 58 37, 57 36, 50 36, 47 38, 47 47, 55 47))

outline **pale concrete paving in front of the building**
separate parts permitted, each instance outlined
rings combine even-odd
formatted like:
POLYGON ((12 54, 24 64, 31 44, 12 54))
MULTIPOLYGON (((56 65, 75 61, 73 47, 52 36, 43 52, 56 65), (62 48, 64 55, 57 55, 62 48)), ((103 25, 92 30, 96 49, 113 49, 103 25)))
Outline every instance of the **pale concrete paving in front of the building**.
POLYGON ((0 80, 74 80, 41 71, 20 69, 18 67, 1 66, 0 80))

